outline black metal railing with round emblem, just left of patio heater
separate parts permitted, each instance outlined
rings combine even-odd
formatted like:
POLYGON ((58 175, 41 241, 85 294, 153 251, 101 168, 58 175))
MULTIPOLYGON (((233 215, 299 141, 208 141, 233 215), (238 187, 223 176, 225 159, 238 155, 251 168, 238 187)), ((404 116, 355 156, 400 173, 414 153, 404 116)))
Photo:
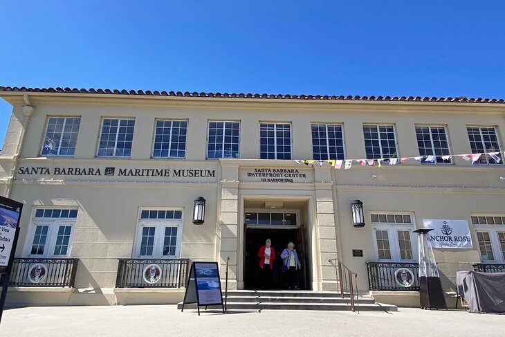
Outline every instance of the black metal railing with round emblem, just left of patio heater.
POLYGON ((419 291, 419 264, 367 262, 370 290, 419 291))

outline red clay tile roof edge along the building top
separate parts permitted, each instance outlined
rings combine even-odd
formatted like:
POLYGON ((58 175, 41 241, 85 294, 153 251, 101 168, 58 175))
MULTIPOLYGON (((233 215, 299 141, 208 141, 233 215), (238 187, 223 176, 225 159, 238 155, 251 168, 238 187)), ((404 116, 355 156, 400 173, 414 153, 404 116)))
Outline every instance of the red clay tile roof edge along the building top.
POLYGON ((360 96, 360 95, 282 95, 271 93, 198 93, 196 91, 190 93, 185 91, 142 91, 142 90, 118 90, 118 89, 77 89, 77 88, 26 88, 25 86, 0 86, 0 94, 2 92, 26 92, 26 93, 101 93, 105 95, 145 95, 145 96, 176 96, 176 97, 205 97, 205 98, 261 98, 270 100, 372 100, 377 102, 405 101, 405 102, 457 102, 457 103, 501 103, 505 100, 496 98, 466 98, 466 97, 421 97, 421 96, 360 96))

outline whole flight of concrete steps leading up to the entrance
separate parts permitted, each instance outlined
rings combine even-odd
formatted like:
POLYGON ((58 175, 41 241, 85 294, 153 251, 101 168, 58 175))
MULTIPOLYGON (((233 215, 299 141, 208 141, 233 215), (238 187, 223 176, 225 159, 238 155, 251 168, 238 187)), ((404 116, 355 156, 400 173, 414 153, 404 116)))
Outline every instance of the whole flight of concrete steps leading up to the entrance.
MULTIPOLYGON (((224 293, 223 293, 224 297, 224 293)), ((224 298, 223 298, 224 302, 224 298)), ((395 305, 379 304, 373 298, 359 298, 360 311, 397 311, 395 305)), ((178 303, 182 309, 183 303, 178 303)), ((205 307, 200 307, 204 309, 205 307)), ((221 307, 209 306, 216 309, 221 307)), ((186 304, 184 309, 196 309, 196 304, 186 304)), ((341 298, 335 291, 228 291, 228 310, 351 310, 349 297, 341 298)), ((358 307, 356 306, 356 311, 358 307)))

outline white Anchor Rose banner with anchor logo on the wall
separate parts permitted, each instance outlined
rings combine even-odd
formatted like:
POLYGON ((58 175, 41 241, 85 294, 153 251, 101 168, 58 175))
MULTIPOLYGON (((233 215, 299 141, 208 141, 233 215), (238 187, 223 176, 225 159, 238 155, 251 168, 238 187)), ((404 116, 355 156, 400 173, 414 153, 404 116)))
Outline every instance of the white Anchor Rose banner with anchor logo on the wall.
POLYGON ((433 229, 426 235, 433 248, 472 248, 466 220, 423 219, 423 227, 433 229))

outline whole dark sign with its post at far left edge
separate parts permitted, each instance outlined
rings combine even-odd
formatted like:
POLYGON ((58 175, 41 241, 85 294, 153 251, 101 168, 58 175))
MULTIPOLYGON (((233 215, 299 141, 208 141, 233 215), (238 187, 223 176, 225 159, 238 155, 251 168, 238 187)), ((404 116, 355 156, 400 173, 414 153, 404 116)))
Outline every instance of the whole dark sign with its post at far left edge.
POLYGON ((10 282, 10 269, 16 252, 17 238, 19 237, 21 210, 23 210, 22 203, 0 196, 0 275, 3 275, 0 295, 0 322, 10 282))

